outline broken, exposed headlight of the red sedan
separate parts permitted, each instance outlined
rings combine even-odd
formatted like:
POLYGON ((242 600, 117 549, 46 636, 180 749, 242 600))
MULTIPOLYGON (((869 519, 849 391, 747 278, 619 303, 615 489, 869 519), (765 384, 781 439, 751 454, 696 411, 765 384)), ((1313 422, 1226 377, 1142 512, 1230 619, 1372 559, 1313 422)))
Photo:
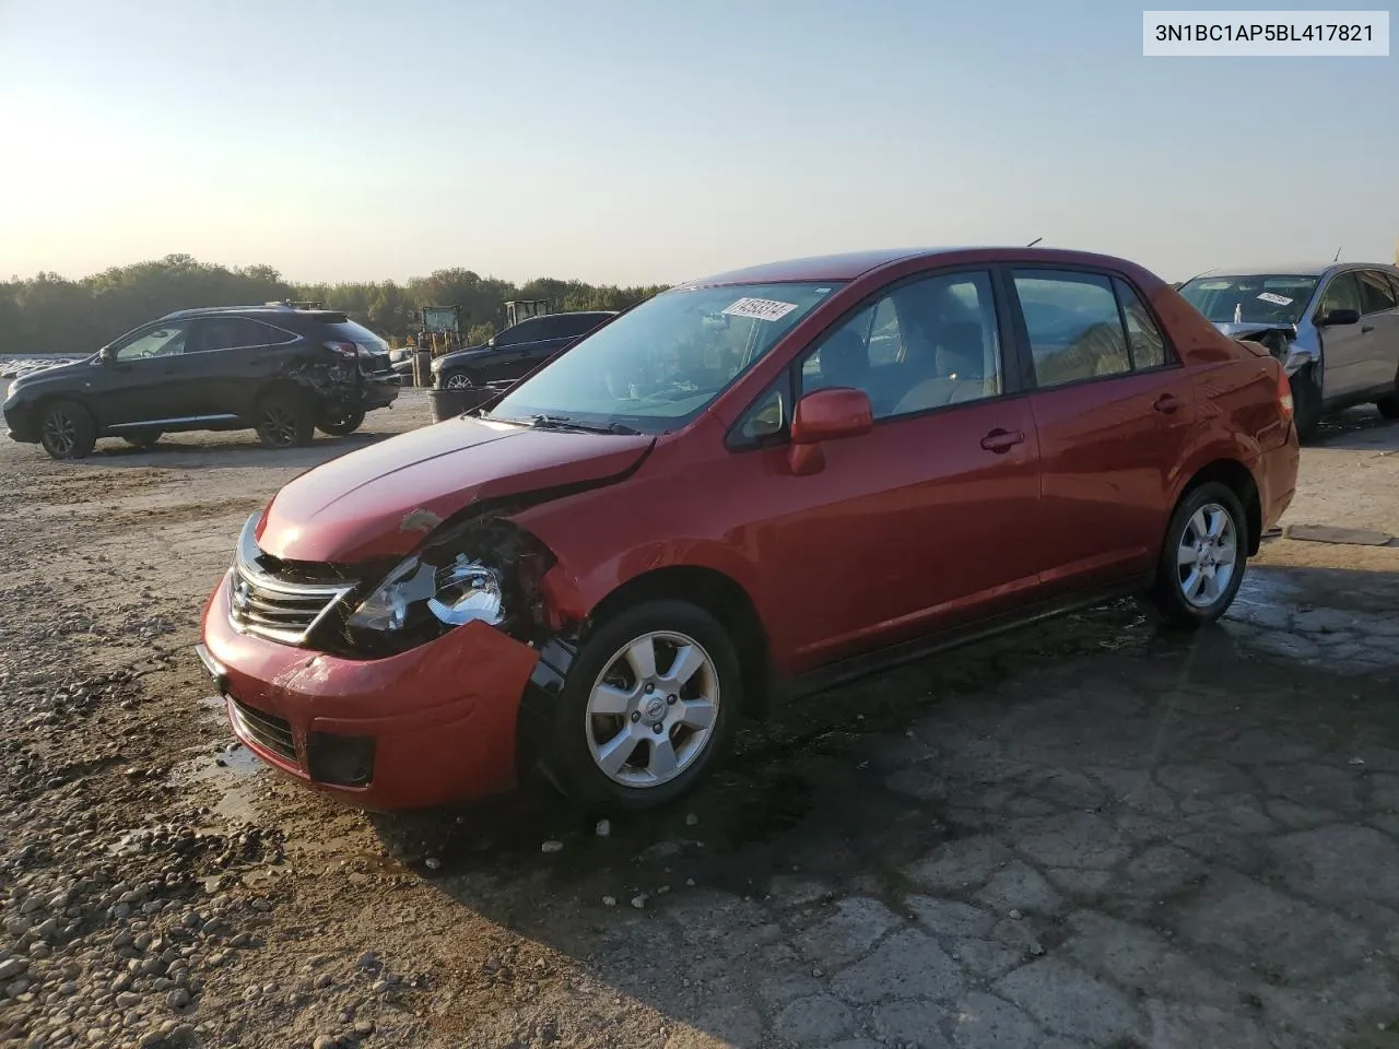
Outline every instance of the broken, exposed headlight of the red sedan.
POLYGON ((404 650, 467 622, 527 634, 553 557, 509 522, 478 522, 400 562, 346 620, 355 649, 404 650))

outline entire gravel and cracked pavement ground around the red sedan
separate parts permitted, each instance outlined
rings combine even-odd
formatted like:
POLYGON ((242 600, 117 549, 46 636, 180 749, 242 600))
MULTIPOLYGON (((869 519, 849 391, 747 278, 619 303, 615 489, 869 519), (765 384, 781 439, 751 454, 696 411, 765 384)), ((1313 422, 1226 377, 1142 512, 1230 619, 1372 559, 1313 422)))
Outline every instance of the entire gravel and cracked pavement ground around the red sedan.
MULTIPOLYGON (((249 512, 428 418, 0 448, 0 1043, 1399 1045, 1399 550, 845 688, 645 818, 367 817, 232 744, 192 645, 249 512)), ((1399 533, 1399 427, 1302 473, 1290 523, 1399 533)))

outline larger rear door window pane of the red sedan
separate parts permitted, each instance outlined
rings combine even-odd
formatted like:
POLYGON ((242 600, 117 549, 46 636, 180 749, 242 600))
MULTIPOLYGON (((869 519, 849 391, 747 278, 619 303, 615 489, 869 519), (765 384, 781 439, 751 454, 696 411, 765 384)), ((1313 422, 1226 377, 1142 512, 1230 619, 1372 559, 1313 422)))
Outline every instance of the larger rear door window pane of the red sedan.
POLYGON ((1118 301, 1107 277, 1017 270, 1014 284, 1038 386, 1132 371, 1118 301))

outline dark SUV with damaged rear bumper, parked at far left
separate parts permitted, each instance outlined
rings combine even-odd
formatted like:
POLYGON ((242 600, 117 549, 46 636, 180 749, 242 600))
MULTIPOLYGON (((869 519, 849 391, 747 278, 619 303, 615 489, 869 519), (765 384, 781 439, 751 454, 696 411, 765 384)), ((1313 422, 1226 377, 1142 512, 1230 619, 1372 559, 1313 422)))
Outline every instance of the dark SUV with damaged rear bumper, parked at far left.
POLYGON ((161 434, 256 429, 264 445, 354 432, 392 404, 399 376, 369 329, 319 304, 182 309, 77 364, 10 385, 14 441, 81 459, 101 436, 145 448, 161 434))

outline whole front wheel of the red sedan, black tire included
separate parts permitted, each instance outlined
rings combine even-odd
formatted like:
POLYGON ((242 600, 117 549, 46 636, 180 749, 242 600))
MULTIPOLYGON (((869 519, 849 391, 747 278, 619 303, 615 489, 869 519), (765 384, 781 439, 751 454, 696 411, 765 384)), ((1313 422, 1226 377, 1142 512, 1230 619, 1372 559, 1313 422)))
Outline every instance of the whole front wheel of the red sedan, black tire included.
POLYGON ((638 604, 579 649, 544 771, 595 811, 663 806, 722 758, 741 702, 739 656, 718 620, 687 601, 638 604))

